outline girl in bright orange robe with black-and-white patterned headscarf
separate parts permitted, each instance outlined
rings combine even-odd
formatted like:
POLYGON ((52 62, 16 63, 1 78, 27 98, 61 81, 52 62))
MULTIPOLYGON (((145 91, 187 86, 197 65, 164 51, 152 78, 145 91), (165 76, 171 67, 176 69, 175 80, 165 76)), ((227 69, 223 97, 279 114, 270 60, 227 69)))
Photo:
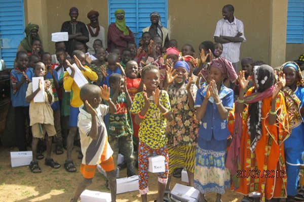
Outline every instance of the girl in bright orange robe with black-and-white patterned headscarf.
POLYGON ((285 77, 278 77, 269 65, 254 66, 253 87, 239 73, 240 94, 236 102, 235 129, 226 167, 233 175, 234 188, 245 195, 260 193, 260 200, 286 197, 284 141, 289 136, 285 99, 280 92, 285 77))

